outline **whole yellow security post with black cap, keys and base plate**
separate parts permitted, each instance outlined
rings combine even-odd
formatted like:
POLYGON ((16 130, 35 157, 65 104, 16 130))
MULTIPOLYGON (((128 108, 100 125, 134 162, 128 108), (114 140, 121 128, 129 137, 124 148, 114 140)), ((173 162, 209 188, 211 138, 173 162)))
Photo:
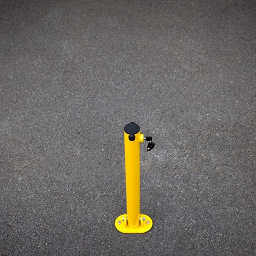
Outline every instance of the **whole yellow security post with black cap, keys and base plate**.
POLYGON ((116 229, 122 233, 145 233, 151 229, 153 221, 140 213, 140 143, 149 141, 147 151, 154 148, 152 137, 140 133, 135 122, 125 125, 125 180, 127 213, 116 218, 116 229))

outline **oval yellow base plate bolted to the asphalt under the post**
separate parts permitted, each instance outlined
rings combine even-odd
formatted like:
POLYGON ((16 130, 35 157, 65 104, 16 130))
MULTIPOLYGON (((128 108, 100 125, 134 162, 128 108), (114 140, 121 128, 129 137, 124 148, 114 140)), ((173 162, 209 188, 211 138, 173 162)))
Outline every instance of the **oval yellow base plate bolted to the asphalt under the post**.
POLYGON ((138 233, 145 233, 151 230, 153 226, 153 221, 148 215, 141 214, 140 215, 140 226, 137 228, 130 228, 126 220, 127 215, 122 214, 116 218, 115 226, 116 229, 122 233, 129 233, 129 234, 138 234, 138 233))

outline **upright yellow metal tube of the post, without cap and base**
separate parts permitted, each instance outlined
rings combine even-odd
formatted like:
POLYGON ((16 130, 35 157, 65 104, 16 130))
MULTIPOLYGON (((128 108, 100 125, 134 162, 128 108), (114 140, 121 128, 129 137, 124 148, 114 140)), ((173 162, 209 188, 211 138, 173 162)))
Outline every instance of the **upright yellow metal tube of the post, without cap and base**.
POLYGON ((140 143, 143 134, 135 134, 135 140, 129 140, 124 131, 125 140, 125 180, 128 227, 140 226, 140 143))

